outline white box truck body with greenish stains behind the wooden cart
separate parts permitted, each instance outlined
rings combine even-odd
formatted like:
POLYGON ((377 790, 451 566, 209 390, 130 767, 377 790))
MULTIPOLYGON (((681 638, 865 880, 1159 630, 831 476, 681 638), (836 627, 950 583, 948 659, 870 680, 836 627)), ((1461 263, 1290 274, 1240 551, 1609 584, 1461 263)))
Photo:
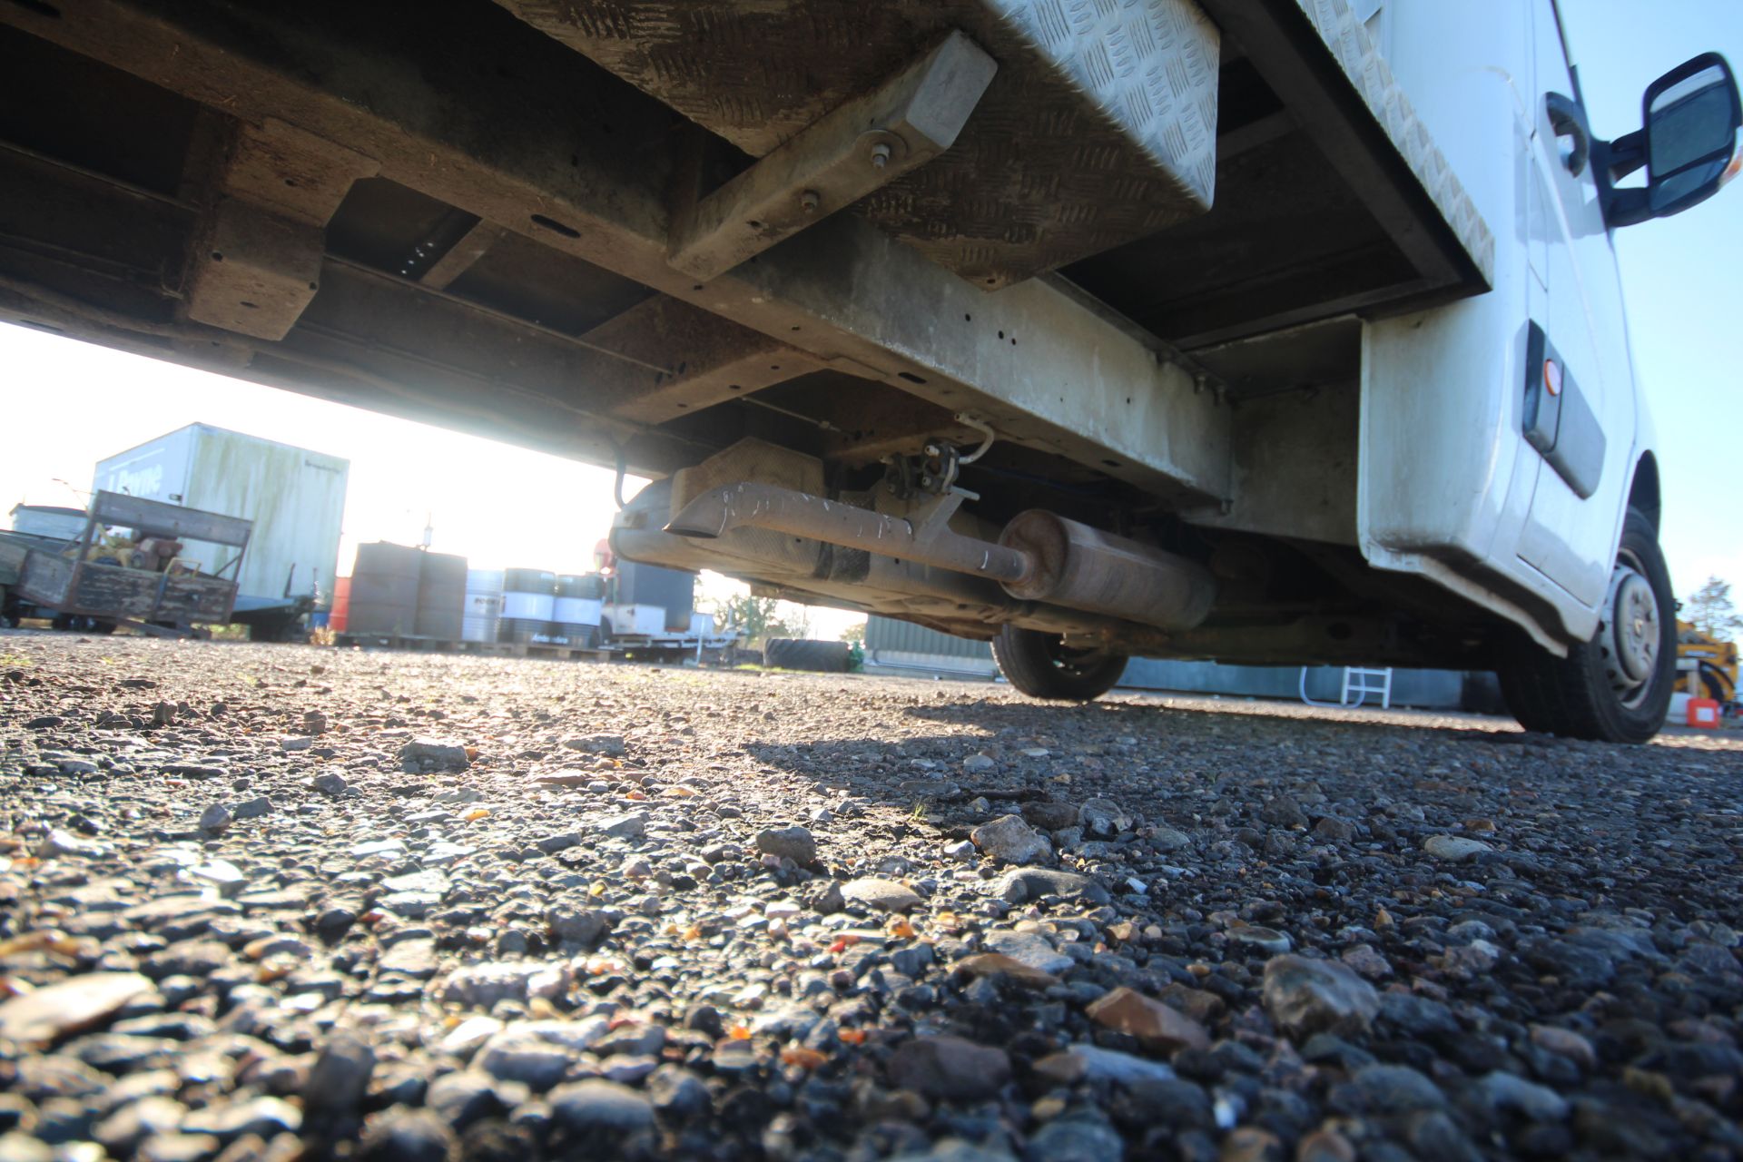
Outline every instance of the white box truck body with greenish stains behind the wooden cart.
MULTIPOLYGON (((331 601, 349 474, 340 456, 190 423, 98 462, 96 488, 253 521, 230 620, 284 641, 331 601)), ((183 556, 216 573, 235 549, 188 542, 183 556)))

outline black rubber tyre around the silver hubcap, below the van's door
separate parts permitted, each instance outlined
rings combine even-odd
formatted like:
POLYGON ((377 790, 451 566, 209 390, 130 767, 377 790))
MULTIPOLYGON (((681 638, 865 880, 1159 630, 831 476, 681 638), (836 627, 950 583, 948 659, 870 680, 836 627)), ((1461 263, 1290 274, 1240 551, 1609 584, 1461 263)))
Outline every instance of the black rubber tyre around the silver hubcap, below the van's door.
POLYGON ((1652 523, 1628 509, 1616 554, 1616 573, 1605 606, 1618 596, 1618 578, 1628 570, 1651 585, 1658 611, 1658 650, 1651 674, 1638 688, 1618 688, 1616 643, 1611 615, 1604 615, 1591 641, 1558 659, 1532 641, 1520 641, 1502 662, 1501 695, 1525 730, 1588 739, 1591 742, 1645 742, 1665 725, 1677 683, 1677 598, 1670 570, 1658 547, 1652 523))

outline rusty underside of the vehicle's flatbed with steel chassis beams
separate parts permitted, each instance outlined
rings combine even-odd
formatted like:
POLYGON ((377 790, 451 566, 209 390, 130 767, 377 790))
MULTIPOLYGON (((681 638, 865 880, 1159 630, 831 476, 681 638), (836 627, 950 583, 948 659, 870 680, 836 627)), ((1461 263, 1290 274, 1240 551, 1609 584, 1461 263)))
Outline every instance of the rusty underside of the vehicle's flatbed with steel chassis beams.
POLYGON ((990 427, 983 521, 1272 531, 1279 401, 1487 228, 1342 0, 1042 7, 10 3, 0 319, 654 477, 990 427))

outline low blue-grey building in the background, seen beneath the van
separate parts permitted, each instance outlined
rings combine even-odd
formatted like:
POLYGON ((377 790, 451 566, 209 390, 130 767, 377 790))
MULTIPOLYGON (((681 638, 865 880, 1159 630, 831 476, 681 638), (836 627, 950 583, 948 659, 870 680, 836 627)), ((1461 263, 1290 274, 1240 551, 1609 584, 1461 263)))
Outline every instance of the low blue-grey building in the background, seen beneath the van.
MULTIPOLYGON (((946 678, 992 678, 999 672, 992 646, 953 638, 887 617, 866 618, 866 669, 927 672, 946 678)), ((1175 662, 1131 659, 1119 679, 1126 690, 1171 690, 1215 693, 1236 699, 1300 699, 1299 665, 1222 665, 1218 662, 1175 662)), ((1344 667, 1307 669, 1307 697, 1337 702, 1344 693, 1344 667)), ((1494 676, 1445 669, 1394 669, 1393 706, 1421 709, 1494 709, 1494 676)), ((1377 706, 1379 699, 1370 699, 1377 706)))

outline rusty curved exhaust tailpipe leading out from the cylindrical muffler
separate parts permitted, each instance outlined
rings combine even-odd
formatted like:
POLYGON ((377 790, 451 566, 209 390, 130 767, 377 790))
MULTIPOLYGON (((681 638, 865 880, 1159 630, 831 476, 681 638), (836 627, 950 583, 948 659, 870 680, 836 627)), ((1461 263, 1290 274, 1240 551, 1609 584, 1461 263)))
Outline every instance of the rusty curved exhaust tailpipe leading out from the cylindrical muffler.
MULTIPOLYGON (((939 503, 955 507, 948 498, 939 503)), ((997 582, 1013 582, 1028 571, 1023 552, 955 533, 945 526, 946 519, 948 512, 938 519, 934 510, 933 519, 915 524, 791 488, 743 481, 708 490, 687 503, 666 531, 711 540, 736 528, 767 528, 997 582)))

